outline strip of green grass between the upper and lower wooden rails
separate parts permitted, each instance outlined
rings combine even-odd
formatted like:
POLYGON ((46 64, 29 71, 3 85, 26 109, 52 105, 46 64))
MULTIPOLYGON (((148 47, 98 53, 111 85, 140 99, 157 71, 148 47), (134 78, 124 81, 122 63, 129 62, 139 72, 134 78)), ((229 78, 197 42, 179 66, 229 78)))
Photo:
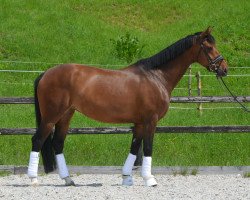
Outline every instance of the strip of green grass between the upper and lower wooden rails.
MULTIPOLYGON (((198 125, 249 125, 247 113, 237 108, 237 104, 202 104, 203 111, 197 110, 197 104, 174 104, 166 116, 159 121, 159 126, 198 126, 198 125), (233 109, 221 109, 223 107, 233 109), (235 108, 234 108, 235 107, 235 108), (178 108, 188 108, 187 110, 178 108), (216 109, 217 108, 217 109, 216 109), (190 110, 189 110, 190 109, 190 110), (208 110, 206 110, 208 109, 208 110)), ((249 104, 248 104, 249 105, 249 104)), ((1 127, 27 128, 35 127, 35 114, 33 105, 1 105, 1 127)), ((127 124, 108 124, 94 121, 76 112, 71 127, 93 126, 127 126, 127 124)))

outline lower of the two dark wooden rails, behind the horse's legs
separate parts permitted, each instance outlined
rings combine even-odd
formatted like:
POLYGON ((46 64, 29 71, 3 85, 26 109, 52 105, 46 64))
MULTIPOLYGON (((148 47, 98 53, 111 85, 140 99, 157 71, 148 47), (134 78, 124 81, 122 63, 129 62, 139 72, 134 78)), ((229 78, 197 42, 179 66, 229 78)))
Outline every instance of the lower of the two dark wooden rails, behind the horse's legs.
MULTIPOLYGON (((69 134, 128 134, 132 127, 70 128, 69 134)), ((0 135, 33 135, 36 128, 0 128, 0 135)), ((250 133, 250 126, 159 126, 156 133, 250 133)))

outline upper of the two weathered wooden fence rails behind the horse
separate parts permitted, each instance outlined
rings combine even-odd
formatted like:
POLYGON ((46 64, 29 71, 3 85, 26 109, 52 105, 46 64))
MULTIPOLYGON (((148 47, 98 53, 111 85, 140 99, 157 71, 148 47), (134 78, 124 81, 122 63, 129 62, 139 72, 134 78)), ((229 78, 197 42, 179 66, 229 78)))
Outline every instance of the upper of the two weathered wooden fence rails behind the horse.
MULTIPOLYGON (((237 96, 239 102, 250 102, 250 96, 237 96)), ((235 99, 230 96, 206 96, 206 97, 172 97, 172 103, 232 103, 235 99)), ((33 104, 33 97, 2 97, 0 104, 33 104)))

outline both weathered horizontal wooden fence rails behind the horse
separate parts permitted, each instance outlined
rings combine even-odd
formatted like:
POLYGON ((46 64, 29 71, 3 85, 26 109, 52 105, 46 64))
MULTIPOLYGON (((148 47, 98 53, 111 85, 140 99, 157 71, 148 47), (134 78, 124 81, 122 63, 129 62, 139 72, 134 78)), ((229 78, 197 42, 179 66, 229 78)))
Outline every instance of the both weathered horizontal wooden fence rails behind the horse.
MULTIPOLYGON (((250 102, 250 96, 238 96, 240 102, 250 102)), ((172 103, 231 103, 233 97, 207 96, 207 97, 172 97, 172 103)), ((0 104, 33 104, 33 97, 4 97, 0 104)), ((33 135, 35 128, 0 128, 0 135, 33 135)), ((71 128, 69 134, 127 134, 132 132, 132 127, 89 127, 71 128)), ((168 126, 157 127, 157 133, 250 133, 250 126, 168 126)))

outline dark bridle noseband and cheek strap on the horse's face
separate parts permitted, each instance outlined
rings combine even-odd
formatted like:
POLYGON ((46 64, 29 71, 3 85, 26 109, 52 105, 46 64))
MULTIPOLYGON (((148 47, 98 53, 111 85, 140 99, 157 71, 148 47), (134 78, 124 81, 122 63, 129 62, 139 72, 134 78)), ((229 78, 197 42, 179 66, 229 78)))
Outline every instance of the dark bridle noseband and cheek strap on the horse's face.
MULTIPOLYGON (((218 55, 217 57, 215 57, 214 59, 212 59, 209 56, 208 50, 205 48, 203 42, 200 44, 200 47, 201 47, 200 51, 203 50, 205 56, 207 57, 207 60, 208 60, 208 70, 212 71, 212 72, 217 72, 218 69, 220 68, 220 65, 221 65, 222 61, 224 60, 224 58, 222 57, 222 55, 218 55)), ((199 51, 198 57, 200 55, 200 51, 199 51)))

